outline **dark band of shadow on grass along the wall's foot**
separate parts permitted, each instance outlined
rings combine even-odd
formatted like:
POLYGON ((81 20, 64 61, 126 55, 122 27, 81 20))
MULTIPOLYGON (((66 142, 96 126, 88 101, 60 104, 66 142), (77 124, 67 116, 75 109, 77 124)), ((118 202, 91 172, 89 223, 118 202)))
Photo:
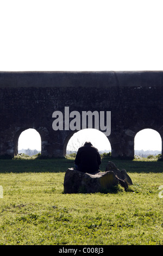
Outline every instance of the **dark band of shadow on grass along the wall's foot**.
MULTIPOLYGON (((118 169, 126 169, 127 173, 163 173, 162 161, 133 161, 118 159, 102 159, 100 170, 105 171, 108 161, 116 164, 118 169)), ((65 157, 56 159, 10 159, 0 160, 0 173, 23 173, 23 172, 66 172, 74 167, 74 160, 65 157)))

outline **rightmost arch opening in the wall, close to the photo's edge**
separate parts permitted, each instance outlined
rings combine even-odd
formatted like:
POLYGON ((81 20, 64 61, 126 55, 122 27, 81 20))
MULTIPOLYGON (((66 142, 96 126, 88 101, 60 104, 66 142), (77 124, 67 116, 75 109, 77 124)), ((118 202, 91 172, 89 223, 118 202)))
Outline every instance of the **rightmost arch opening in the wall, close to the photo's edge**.
POLYGON ((162 151, 162 139, 159 132, 153 129, 143 129, 136 133, 134 139, 134 155, 147 157, 158 155, 162 151))

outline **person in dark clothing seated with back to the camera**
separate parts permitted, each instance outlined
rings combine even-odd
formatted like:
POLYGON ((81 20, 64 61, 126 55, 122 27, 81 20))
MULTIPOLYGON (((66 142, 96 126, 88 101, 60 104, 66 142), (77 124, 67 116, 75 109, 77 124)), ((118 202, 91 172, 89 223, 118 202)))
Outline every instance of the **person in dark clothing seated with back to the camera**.
POLYGON ((75 169, 80 172, 97 173, 101 164, 101 156, 91 142, 85 142, 84 146, 78 149, 74 163, 75 169))

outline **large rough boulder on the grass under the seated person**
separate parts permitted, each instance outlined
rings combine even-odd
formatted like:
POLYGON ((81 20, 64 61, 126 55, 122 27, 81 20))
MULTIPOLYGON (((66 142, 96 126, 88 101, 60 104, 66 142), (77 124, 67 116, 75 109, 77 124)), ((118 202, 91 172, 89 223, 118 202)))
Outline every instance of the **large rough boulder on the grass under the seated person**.
POLYGON ((84 173, 68 168, 64 179, 64 193, 95 193, 112 190, 120 184, 127 190, 132 181, 126 170, 119 170, 114 163, 108 162, 105 172, 84 173))

